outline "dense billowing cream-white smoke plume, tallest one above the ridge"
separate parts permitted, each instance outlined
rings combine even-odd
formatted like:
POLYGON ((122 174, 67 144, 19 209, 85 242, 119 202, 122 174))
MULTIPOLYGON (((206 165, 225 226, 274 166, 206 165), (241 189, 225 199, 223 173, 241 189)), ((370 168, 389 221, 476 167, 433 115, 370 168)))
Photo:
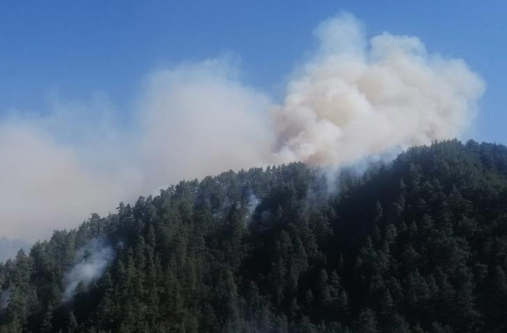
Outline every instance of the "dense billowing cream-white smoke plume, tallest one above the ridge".
POLYGON ((416 37, 366 42, 343 14, 315 31, 320 47, 274 111, 278 160, 346 164, 389 148, 458 136, 485 86, 459 59, 428 54, 416 37))

